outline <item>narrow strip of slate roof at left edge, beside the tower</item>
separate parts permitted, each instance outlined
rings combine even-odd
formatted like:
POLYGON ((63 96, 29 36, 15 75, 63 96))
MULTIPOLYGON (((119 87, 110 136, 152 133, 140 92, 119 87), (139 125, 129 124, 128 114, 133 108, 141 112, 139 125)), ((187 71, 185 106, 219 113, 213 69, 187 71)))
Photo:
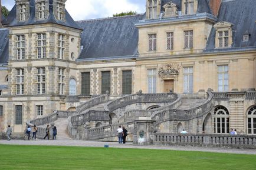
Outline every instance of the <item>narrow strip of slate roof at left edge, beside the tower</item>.
POLYGON ((0 64, 8 63, 9 56, 9 30, 0 29, 0 64))

